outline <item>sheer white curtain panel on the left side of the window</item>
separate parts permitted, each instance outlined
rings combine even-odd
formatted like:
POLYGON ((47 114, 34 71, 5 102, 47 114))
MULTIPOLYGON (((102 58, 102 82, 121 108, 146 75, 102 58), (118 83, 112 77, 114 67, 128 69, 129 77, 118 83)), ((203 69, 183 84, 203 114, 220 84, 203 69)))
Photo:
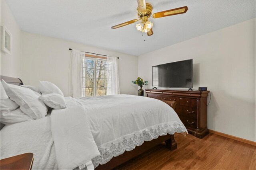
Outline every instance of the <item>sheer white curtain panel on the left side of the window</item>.
POLYGON ((68 94, 73 98, 82 97, 82 59, 84 59, 84 55, 84 52, 74 49, 71 53, 68 94))

